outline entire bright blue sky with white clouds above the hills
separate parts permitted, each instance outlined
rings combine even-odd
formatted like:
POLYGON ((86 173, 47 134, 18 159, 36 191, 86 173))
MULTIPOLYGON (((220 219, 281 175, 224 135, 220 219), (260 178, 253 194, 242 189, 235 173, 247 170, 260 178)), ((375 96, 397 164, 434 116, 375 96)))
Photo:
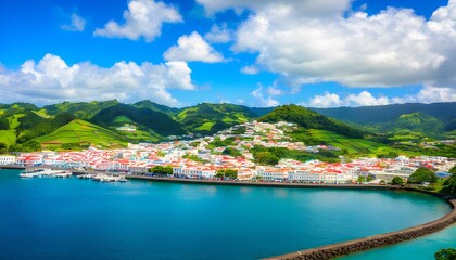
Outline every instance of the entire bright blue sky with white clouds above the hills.
POLYGON ((456 102, 456 0, 0 1, 0 103, 456 102))

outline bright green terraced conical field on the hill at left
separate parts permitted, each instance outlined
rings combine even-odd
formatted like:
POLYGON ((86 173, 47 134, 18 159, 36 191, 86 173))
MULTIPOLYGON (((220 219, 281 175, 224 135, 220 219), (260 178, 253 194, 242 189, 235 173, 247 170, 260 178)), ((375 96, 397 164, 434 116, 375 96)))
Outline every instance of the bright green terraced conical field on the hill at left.
POLYGON ((84 120, 73 120, 50 134, 37 138, 43 146, 64 143, 90 143, 92 145, 126 145, 122 135, 84 120))

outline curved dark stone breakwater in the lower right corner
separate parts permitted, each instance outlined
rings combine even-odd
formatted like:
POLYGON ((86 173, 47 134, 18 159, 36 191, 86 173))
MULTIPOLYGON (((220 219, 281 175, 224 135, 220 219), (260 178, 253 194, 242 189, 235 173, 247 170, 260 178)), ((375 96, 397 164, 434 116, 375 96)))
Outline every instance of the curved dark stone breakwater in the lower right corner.
MULTIPOLYGON (((407 188, 408 190, 408 188, 407 188)), ((456 222, 456 199, 447 200, 452 207, 452 211, 432 222, 417 225, 402 231, 391 232, 381 235, 369 236, 360 239, 338 243, 329 246, 317 247, 303 251, 291 252, 282 256, 271 257, 267 259, 305 259, 320 260, 341 257, 356 251, 363 251, 376 247, 397 244, 405 240, 415 239, 438 231, 441 231, 456 222)))

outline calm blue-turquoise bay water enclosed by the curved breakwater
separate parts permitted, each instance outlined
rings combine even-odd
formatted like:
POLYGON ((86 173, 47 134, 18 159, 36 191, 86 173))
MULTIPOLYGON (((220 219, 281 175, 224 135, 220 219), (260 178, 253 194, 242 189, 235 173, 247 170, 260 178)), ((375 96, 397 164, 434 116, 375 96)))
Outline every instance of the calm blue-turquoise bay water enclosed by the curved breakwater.
POLYGON ((20 179, 0 170, 0 259, 258 259, 438 219, 404 192, 20 179))

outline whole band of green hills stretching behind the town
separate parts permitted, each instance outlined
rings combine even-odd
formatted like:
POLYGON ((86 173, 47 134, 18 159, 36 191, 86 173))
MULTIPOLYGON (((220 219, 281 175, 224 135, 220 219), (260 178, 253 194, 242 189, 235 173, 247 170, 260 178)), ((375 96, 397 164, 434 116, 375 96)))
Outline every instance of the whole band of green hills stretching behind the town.
POLYGON ((225 103, 174 108, 147 100, 131 105, 111 100, 43 107, 14 103, 0 104, 0 146, 10 151, 39 150, 41 145, 55 150, 116 147, 126 142, 159 142, 168 135, 213 134, 257 119, 294 122, 299 128, 288 133, 292 140, 307 145, 333 145, 342 154, 456 157, 455 145, 432 142, 422 145, 432 138, 456 139, 455 113, 456 103, 314 110, 297 105, 258 108, 225 103), (134 131, 119 129, 125 126, 134 131))

